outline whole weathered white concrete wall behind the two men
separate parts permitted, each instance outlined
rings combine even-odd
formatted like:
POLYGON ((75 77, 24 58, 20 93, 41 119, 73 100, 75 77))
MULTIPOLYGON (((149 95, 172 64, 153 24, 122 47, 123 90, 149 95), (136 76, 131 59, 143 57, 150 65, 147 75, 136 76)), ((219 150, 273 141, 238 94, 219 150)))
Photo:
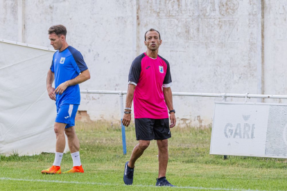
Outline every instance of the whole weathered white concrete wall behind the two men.
MULTIPOLYGON (((156 28, 173 91, 286 94, 286 12, 286 0, 0 0, 0 38, 49 47, 48 28, 64 24, 91 71, 81 89, 126 90, 132 60, 146 51, 143 35, 156 28)), ((212 122, 220 100, 173 99, 178 121, 199 126, 212 122)), ((119 98, 84 94, 80 110, 118 121, 119 98)))

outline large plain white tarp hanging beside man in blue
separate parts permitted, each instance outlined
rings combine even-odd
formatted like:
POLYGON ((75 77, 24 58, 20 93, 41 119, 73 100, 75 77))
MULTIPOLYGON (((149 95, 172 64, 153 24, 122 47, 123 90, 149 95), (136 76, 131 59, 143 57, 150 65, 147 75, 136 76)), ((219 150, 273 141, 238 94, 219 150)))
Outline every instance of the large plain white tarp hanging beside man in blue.
POLYGON ((0 154, 55 152, 55 101, 46 91, 54 52, 46 49, 0 42, 0 154))

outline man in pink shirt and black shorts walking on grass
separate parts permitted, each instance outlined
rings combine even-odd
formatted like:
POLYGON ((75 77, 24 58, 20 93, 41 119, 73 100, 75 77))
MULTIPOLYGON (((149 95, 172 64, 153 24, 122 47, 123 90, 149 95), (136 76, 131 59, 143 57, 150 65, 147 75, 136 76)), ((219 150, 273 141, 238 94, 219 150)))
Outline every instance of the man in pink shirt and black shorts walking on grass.
POLYGON ((144 38, 147 51, 134 59, 128 76, 123 125, 126 127, 130 125, 132 100, 134 100, 134 122, 139 143, 134 147, 130 161, 125 163, 123 181, 126 185, 132 184, 134 163, 148 148, 150 140, 157 140, 159 175, 155 185, 174 186, 166 180, 168 138, 171 138, 170 128, 175 127, 176 122, 171 92, 171 71, 168 61, 158 55, 159 46, 162 44, 159 32, 150 28, 144 38))

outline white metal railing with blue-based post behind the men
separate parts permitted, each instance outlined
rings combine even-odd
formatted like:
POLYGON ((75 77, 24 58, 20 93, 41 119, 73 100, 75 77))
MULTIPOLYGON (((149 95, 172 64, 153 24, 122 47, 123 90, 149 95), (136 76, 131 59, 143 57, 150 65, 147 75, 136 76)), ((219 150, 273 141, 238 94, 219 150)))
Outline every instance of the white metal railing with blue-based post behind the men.
MULTIPOLYGON (((96 93, 96 94, 117 94, 119 95, 119 109, 121 113, 121 121, 123 120, 123 95, 127 91, 105 91, 105 90, 81 90, 80 93, 96 93)), ((287 99, 287 96, 281 95, 263 95, 263 94, 249 94, 249 93, 189 93, 189 92, 173 92, 173 96, 198 96, 198 97, 214 97, 214 98, 273 98, 273 99, 287 99)), ((121 134, 123 143, 123 154, 127 154, 125 143, 125 126, 121 123, 121 134)))

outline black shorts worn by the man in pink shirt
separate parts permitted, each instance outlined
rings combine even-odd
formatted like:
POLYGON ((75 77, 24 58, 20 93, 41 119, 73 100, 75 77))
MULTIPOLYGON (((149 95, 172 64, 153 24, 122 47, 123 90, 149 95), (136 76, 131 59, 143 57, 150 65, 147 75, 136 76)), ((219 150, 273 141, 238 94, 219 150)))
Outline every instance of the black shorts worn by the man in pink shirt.
POLYGON ((168 118, 136 118, 134 122, 137 140, 164 140, 171 138, 168 118))

